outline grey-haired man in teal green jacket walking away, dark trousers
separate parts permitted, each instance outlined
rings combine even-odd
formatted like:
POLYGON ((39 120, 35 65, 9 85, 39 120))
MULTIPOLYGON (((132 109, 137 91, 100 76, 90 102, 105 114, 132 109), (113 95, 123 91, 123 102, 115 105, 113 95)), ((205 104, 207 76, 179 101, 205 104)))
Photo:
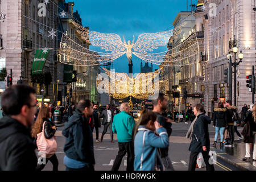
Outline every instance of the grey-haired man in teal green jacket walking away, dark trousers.
POLYGON ((133 147, 133 127, 135 125, 134 118, 129 115, 130 106, 127 102, 121 104, 121 113, 116 114, 112 123, 113 133, 117 133, 118 139, 118 154, 115 158, 112 171, 118 171, 122 162, 123 156, 127 152, 127 171, 133 171, 134 163, 134 147, 133 147))

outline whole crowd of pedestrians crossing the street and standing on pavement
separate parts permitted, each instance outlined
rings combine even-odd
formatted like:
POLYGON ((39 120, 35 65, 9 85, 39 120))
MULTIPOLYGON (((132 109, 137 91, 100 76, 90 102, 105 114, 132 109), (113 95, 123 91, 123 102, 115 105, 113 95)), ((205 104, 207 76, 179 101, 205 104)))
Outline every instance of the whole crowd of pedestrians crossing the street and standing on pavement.
MULTIPOLYGON (((77 106, 71 103, 65 108, 45 106, 39 107, 35 99, 35 90, 26 85, 14 85, 2 95, 1 105, 5 117, 0 121, 0 170, 36 170, 41 171, 48 161, 53 171, 58 170, 59 161, 56 156, 56 126, 52 122, 53 110, 58 109, 67 114, 62 131, 65 137, 64 164, 67 171, 94 171, 93 130, 96 129, 96 142, 102 142, 106 131, 110 130, 110 142, 114 142, 113 134, 117 134, 118 153, 112 171, 118 171, 123 156, 127 154, 127 171, 174 171, 168 155, 169 138, 172 133, 172 121, 166 118, 167 97, 159 93, 152 101, 153 110, 144 109, 139 121, 135 123, 130 115, 129 103, 122 103, 112 110, 110 105, 100 112, 97 104, 89 100, 80 100, 77 106), (102 118, 102 123, 100 122, 102 118), (99 140, 98 128, 104 126, 99 140), (36 156, 36 148, 39 158, 36 156)), ((197 157, 203 155, 206 169, 214 171, 209 163, 210 139, 208 125, 211 119, 205 115, 203 105, 189 106, 184 113, 191 126, 186 137, 191 139, 188 150, 189 171, 196 169, 197 157), (193 109, 193 110, 192 110, 193 109)), ((246 156, 256 160, 256 105, 245 104, 238 118, 237 108, 230 101, 218 103, 214 108, 213 127, 216 134, 213 146, 216 147, 220 135, 220 147, 234 146, 234 133, 241 139, 237 125, 243 127, 243 142, 246 143, 246 156), (240 122, 240 120, 242 122, 240 122), (254 147, 251 147, 254 144, 254 147)))

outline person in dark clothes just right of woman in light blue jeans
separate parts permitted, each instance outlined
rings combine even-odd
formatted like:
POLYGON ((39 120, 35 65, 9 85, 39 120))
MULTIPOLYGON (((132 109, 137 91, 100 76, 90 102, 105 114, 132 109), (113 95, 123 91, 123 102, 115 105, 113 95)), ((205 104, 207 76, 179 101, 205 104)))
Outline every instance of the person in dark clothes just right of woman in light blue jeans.
POLYGON ((228 131, 230 143, 226 143, 226 147, 234 146, 234 119, 233 116, 237 114, 237 107, 231 105, 232 102, 230 100, 226 101, 226 118, 228 122, 228 131))

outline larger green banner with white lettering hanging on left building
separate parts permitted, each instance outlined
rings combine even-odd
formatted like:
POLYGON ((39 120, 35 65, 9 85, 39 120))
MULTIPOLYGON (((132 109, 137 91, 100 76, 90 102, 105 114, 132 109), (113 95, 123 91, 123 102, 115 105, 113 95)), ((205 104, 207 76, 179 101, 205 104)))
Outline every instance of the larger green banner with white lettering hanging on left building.
POLYGON ((46 64, 47 57, 49 55, 49 50, 47 49, 37 49, 32 64, 32 75, 43 73, 44 65, 46 64))

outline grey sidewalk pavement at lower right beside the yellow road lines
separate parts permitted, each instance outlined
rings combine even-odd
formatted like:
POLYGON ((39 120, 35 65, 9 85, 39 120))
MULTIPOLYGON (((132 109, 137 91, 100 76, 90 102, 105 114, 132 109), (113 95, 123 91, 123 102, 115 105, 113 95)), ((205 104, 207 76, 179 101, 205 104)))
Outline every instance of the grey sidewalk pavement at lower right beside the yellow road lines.
MULTIPOLYGON (((211 143, 212 144, 212 143, 211 143)), ((256 162, 245 162, 242 158, 245 157, 245 143, 243 139, 236 140, 234 147, 223 147, 220 148, 220 143, 218 142, 216 148, 211 147, 210 150, 216 151, 217 158, 229 163, 242 171, 256 171, 256 162)))

